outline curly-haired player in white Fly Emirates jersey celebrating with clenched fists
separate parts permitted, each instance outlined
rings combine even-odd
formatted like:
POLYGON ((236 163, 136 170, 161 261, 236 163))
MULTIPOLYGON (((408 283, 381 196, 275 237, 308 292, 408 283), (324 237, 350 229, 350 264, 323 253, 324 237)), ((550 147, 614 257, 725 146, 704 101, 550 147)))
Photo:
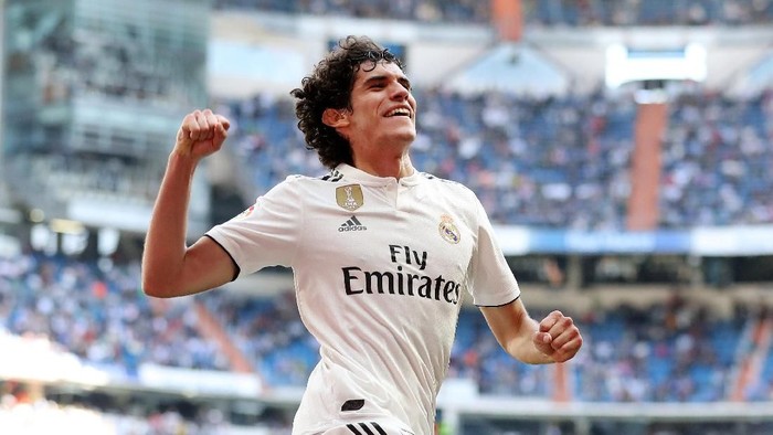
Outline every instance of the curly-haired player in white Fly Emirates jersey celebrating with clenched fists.
POLYGON ((294 434, 431 435, 465 294, 513 358, 576 354, 571 318, 527 314, 475 194, 411 163, 416 102, 400 60, 349 36, 292 94, 298 127, 330 173, 289 177, 187 247, 193 171, 229 129, 223 116, 194 110, 169 157, 142 285, 174 297, 292 267, 301 319, 320 343, 294 434))

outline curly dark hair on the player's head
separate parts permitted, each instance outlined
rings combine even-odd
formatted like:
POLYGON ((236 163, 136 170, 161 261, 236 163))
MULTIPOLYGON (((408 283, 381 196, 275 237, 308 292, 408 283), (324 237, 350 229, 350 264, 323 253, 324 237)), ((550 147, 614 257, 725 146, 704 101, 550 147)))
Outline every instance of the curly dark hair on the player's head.
POLYGON ((357 72, 373 70, 380 62, 404 65, 389 49, 368 36, 347 36, 304 77, 301 87, 290 92, 296 100, 298 128, 306 137, 306 148, 317 150, 319 161, 333 169, 353 165, 351 146, 335 128, 322 123, 327 108, 351 109, 351 89, 357 72))

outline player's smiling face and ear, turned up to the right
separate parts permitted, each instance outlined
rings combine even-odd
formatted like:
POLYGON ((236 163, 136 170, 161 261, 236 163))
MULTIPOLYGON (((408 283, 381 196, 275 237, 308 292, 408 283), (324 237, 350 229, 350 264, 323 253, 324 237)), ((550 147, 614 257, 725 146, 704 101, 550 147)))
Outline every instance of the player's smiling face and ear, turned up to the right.
MULTIPOLYGON (((398 147, 406 150, 416 138, 416 100, 411 83, 393 63, 360 68, 351 91, 351 109, 336 127, 358 150, 398 147), (401 148, 402 147, 402 148, 401 148)), ((335 127, 335 126, 333 126, 335 127)))

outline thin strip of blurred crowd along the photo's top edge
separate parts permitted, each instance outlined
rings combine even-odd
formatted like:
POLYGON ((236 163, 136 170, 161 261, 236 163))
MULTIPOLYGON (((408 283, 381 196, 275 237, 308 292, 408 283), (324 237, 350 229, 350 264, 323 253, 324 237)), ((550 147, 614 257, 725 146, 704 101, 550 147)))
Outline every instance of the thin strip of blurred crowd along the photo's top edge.
MULTIPOLYGON (((521 4, 530 26, 739 25, 773 20, 770 0, 525 0, 521 4)), ((476 0, 214 0, 214 7, 421 22, 491 21, 489 3, 476 0)))

